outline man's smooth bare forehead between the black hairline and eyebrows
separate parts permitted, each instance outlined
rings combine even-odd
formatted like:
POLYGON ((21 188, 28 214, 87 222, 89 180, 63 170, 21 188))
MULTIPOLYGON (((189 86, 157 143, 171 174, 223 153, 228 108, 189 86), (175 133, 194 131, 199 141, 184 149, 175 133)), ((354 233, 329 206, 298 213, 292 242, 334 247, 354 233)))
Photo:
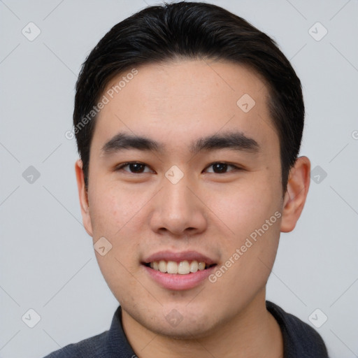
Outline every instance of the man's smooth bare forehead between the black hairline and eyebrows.
POLYGON ((103 96, 108 103, 96 118, 94 146, 123 129, 172 147, 230 129, 262 143, 278 141, 268 89, 246 66, 208 60, 145 64, 113 78, 103 96))

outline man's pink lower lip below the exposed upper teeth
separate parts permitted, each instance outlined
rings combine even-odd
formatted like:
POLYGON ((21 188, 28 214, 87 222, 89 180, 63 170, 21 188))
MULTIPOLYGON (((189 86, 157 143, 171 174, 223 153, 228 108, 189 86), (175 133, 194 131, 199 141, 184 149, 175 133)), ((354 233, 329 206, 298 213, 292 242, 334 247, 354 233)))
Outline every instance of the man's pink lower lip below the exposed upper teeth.
POLYGON ((215 270, 215 266, 212 266, 205 270, 181 275, 180 273, 163 273, 145 265, 143 267, 159 285, 162 285, 166 289, 176 290, 191 289, 200 285, 215 270))

